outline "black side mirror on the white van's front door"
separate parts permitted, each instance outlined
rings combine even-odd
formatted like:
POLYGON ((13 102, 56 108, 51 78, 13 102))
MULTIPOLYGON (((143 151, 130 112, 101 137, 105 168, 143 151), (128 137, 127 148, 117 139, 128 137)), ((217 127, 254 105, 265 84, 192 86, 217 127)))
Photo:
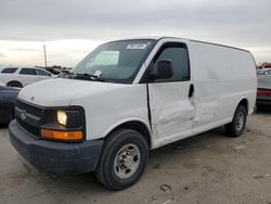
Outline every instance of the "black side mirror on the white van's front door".
POLYGON ((170 60, 158 61, 157 66, 154 66, 153 71, 151 72, 152 79, 171 78, 172 75, 172 63, 170 60))

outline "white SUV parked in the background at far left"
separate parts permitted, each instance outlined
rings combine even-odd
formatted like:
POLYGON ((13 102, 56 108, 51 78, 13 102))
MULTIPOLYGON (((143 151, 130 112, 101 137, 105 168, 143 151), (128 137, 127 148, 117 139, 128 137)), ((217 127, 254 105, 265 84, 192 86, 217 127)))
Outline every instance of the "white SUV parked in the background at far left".
POLYGON ((27 85, 52 78, 54 75, 42 68, 5 67, 0 69, 0 81, 10 87, 27 85))

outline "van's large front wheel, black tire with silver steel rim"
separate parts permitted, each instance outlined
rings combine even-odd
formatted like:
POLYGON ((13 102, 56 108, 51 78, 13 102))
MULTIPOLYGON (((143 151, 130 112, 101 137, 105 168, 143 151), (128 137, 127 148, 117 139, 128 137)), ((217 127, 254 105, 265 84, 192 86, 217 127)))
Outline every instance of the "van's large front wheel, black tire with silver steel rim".
POLYGON ((126 189, 140 179, 147 156, 147 143, 140 132, 119 129, 105 141, 96 177, 109 190, 126 189))

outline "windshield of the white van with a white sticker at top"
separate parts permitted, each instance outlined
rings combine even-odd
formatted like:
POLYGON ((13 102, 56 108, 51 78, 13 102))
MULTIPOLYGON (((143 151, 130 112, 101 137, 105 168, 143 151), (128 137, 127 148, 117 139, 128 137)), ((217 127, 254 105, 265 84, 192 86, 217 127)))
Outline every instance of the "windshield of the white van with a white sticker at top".
MULTIPOLYGON (((131 84, 156 40, 122 40, 104 43, 70 72, 75 76, 131 84)), ((76 77, 75 77, 76 78, 76 77)))

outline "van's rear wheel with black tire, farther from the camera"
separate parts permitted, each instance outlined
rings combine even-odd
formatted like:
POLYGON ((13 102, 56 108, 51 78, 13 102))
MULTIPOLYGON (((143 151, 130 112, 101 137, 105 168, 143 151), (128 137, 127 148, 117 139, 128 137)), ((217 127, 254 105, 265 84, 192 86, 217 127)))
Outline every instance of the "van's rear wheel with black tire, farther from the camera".
POLYGON ((233 119, 224 126, 228 136, 236 138, 242 136, 246 127, 247 112, 243 105, 237 106, 233 119), (243 117, 243 119, 241 119, 243 117))

